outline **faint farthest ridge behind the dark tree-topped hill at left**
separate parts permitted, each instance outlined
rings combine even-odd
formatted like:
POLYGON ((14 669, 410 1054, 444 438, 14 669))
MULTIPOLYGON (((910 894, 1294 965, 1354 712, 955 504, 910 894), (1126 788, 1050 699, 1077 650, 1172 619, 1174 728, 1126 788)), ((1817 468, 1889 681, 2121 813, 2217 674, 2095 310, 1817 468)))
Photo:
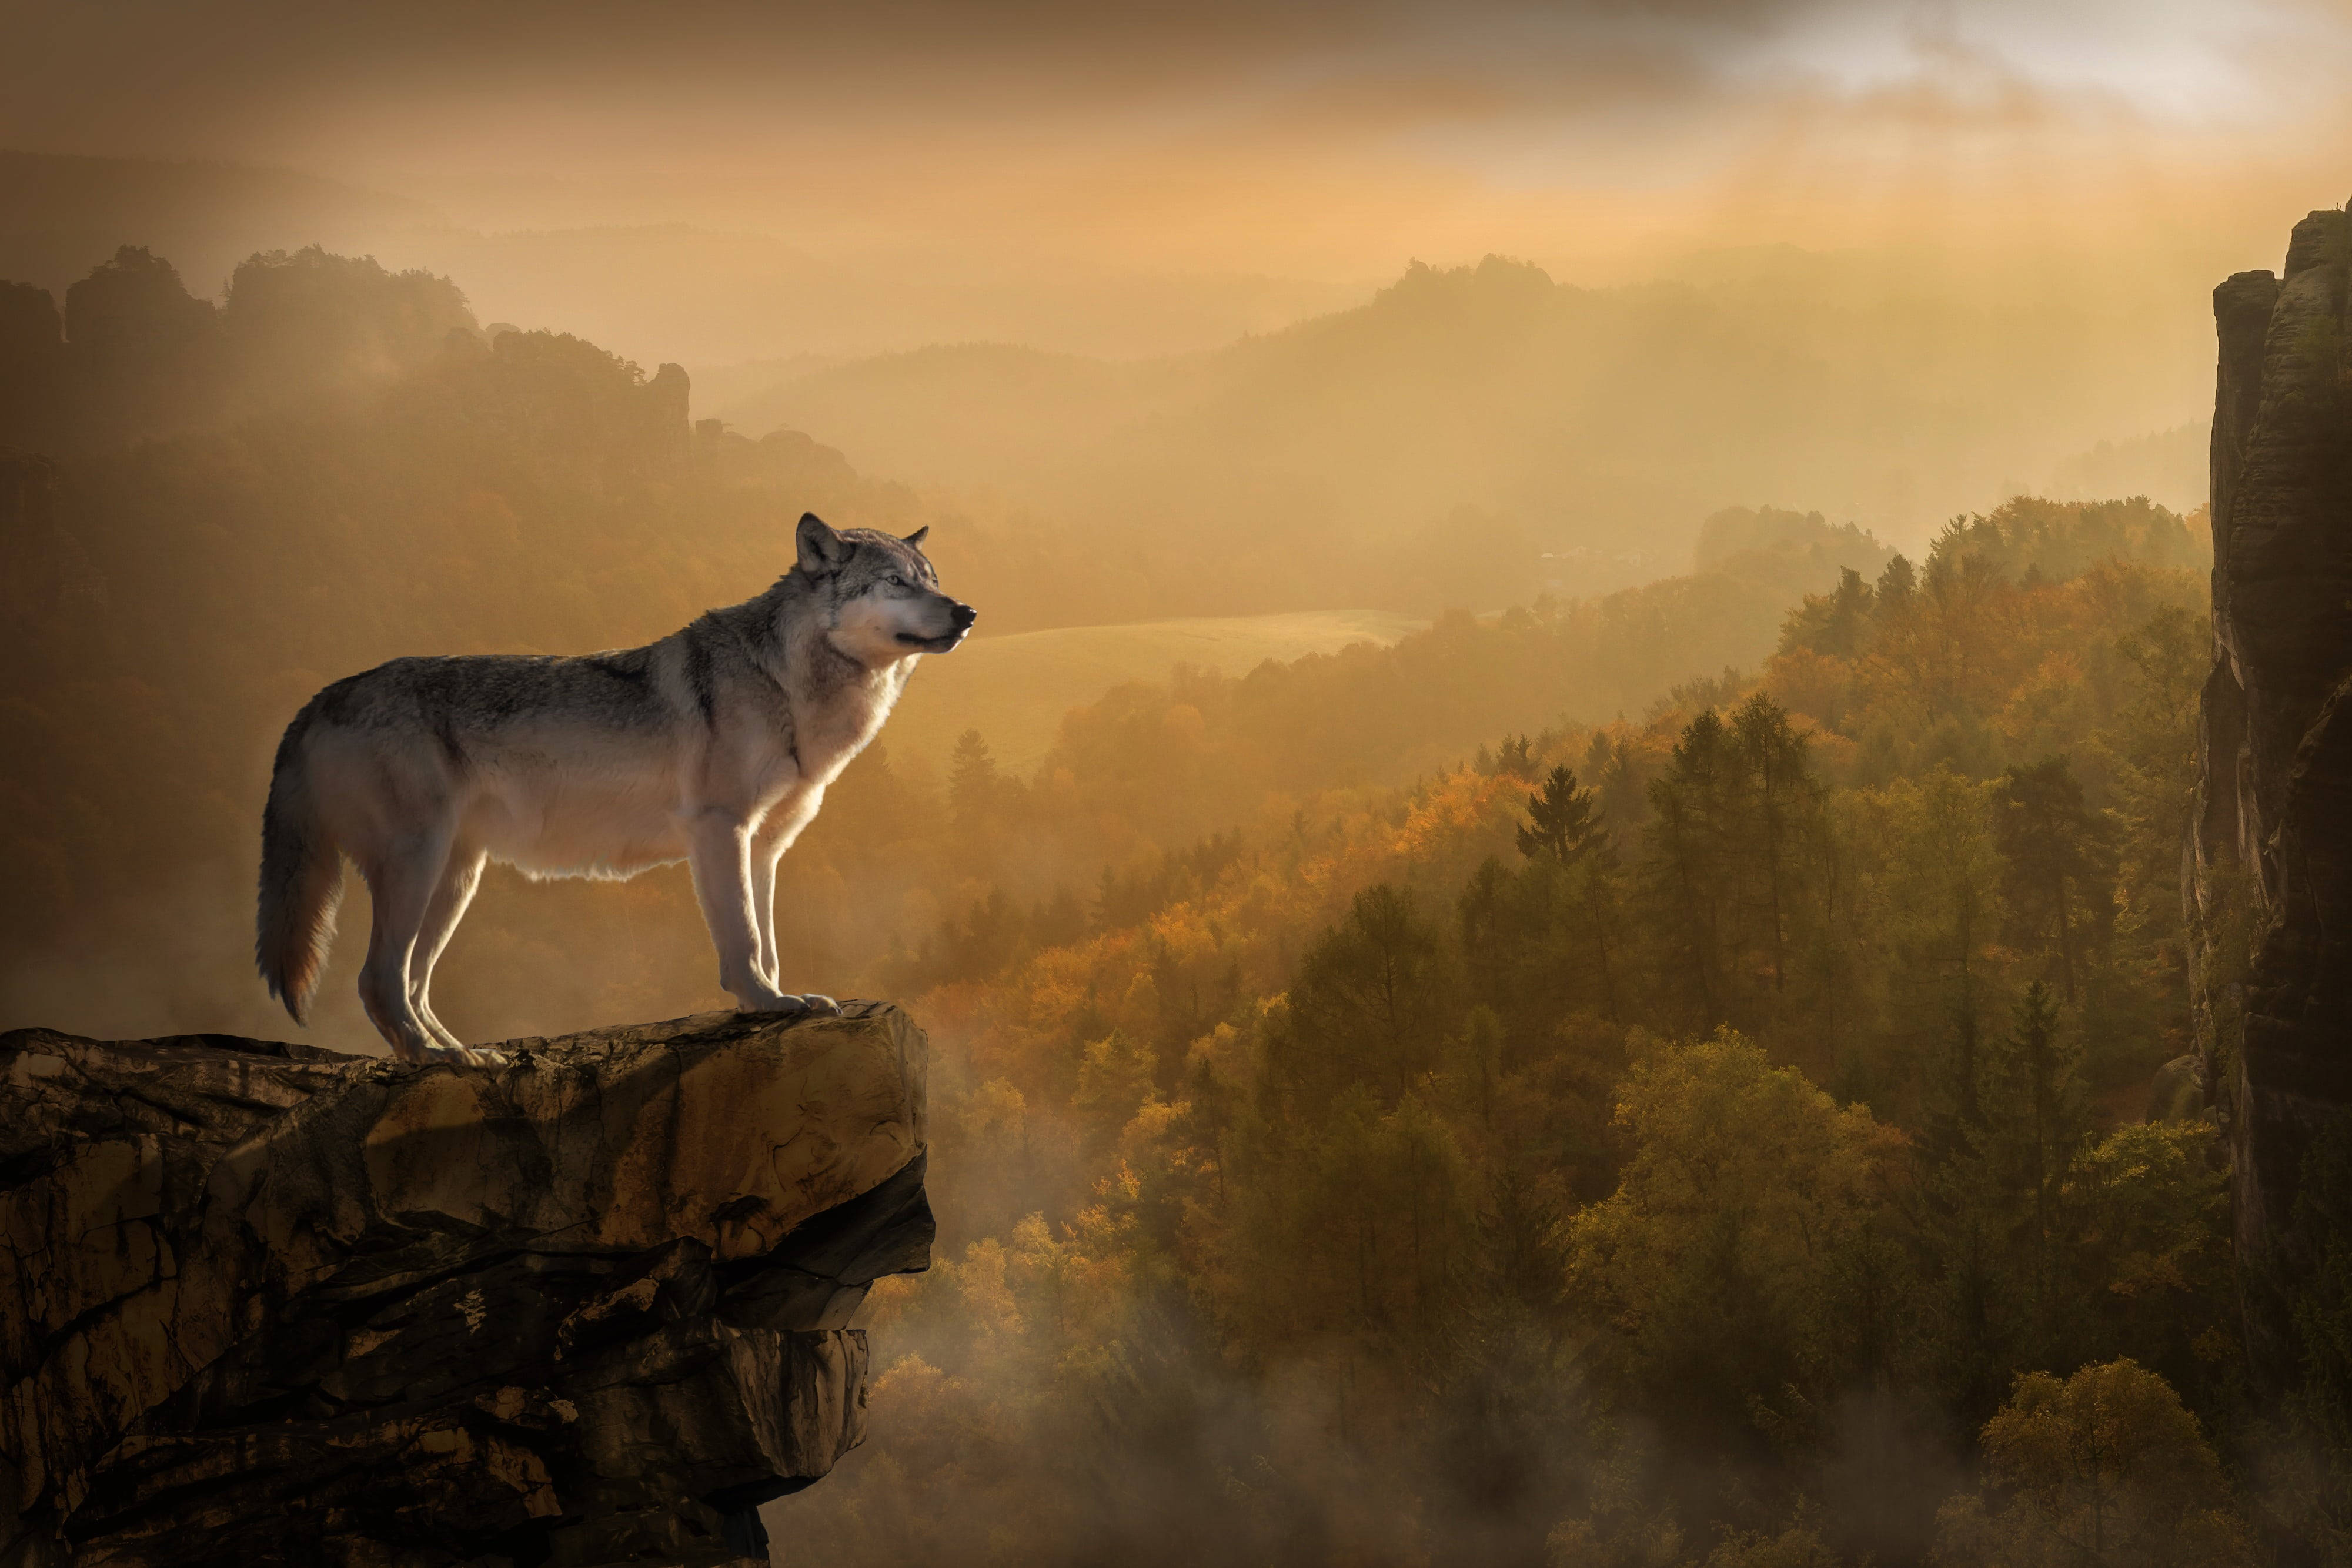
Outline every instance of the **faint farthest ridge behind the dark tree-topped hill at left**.
POLYGON ((1070 259, 969 273, 929 254, 818 254, 788 221, 764 233, 760 223, 600 214, 593 202, 532 190, 513 205, 449 195, 454 209, 292 169, 0 150, 0 277, 61 292, 115 247, 141 244, 212 294, 254 252, 322 244, 459 277, 482 320, 576 331, 696 371, 976 336, 1152 355, 1355 296, 1310 277, 1138 273, 1070 259))

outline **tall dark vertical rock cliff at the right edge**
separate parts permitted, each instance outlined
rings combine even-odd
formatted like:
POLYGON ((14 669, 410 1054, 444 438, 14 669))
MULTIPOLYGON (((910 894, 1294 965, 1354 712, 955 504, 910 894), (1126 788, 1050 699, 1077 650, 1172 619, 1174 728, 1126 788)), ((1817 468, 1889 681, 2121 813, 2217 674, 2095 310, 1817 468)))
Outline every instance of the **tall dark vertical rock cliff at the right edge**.
POLYGON ((2352 1110, 2352 219, 2213 292, 2213 642, 2190 830, 2194 1001, 2234 1157, 2249 1338, 2291 1371, 2296 1182, 2352 1110), (2251 943, 2249 943, 2251 936, 2251 943), (2244 957, 2239 957, 2244 954, 2244 957))

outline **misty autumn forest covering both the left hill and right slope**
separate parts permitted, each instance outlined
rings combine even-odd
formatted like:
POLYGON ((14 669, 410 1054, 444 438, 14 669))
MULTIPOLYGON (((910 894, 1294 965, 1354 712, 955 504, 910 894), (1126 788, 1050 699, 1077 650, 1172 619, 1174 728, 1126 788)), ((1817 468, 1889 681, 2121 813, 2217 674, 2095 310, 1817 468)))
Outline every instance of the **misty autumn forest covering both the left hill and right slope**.
MULTIPOLYGON (((1122 571, 1251 609, 1218 583, 1327 545, 1211 531, 1150 581, 318 249, 226 306, 125 249, 64 310, 0 287, 0 336, 9 1023, 285 1027, 252 820, 348 670, 663 635, 771 581, 800 510, 934 524, 1007 625, 1122 571)), ((1428 522, 1383 571, 1463 527, 1428 522)), ((779 924, 804 985, 929 1030, 941 1244, 863 1312, 875 1439, 790 1500, 788 1561, 2345 1540, 2343 1410, 2249 1399, 2178 1063, 2204 520, 2016 496, 1919 559, 1818 512, 1693 527, 1637 588, 1117 686, 1033 771, 978 731, 851 766, 779 924)), ((499 1039, 708 1009, 708 969, 682 872, 515 879, 440 994, 499 1039)))

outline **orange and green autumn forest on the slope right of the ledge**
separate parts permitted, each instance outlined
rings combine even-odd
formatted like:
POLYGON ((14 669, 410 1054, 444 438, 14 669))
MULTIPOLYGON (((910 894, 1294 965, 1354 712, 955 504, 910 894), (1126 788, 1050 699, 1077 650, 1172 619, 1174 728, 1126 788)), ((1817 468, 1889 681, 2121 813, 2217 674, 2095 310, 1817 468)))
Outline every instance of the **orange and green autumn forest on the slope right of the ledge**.
MULTIPOLYGON (((877 1291, 875 1408, 934 1436, 807 1514, 861 1561, 983 1561, 976 1519, 1073 1561, 2253 1561, 2223 1168, 2164 1074, 2178 531, 2013 503, 1639 722, 1284 792, 1091 900, 990 884, 901 983, 962 1044, 969 1239, 877 1291)), ((1120 717, 1249 757, 1249 703, 1120 717)), ((948 790, 974 842, 1065 811, 976 741, 948 790)))

